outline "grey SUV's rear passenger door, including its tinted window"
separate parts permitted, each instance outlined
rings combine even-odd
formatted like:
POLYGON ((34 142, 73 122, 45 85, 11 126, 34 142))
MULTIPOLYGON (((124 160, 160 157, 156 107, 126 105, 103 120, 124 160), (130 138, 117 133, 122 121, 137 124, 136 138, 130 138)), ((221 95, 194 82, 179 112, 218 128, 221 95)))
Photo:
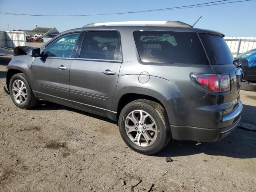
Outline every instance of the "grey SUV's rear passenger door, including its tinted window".
POLYGON ((120 36, 116 31, 88 31, 70 67, 70 97, 75 106, 109 114, 120 66, 120 36))

